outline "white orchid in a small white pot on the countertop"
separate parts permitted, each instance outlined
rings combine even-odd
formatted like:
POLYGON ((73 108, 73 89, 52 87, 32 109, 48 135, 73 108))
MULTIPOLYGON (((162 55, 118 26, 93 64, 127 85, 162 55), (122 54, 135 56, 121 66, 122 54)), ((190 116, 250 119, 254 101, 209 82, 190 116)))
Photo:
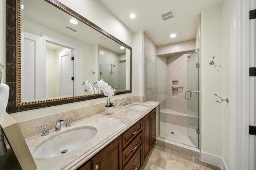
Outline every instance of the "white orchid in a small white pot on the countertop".
POLYGON ((104 93, 104 96, 107 97, 107 104, 105 106, 106 113, 112 114, 114 110, 114 104, 110 102, 110 98, 115 95, 116 88, 112 88, 112 86, 108 85, 108 83, 104 82, 102 79, 97 82, 98 89, 104 93))

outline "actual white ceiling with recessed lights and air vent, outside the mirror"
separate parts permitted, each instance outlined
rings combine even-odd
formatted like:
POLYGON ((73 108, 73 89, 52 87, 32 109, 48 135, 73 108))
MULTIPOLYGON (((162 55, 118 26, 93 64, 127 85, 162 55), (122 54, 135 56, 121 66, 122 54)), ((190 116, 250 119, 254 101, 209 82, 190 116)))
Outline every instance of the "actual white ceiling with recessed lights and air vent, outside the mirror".
POLYGON ((165 45, 196 38, 199 14, 224 0, 99 0, 133 33, 144 30, 154 43, 165 45), (162 21, 161 14, 174 10, 175 17, 162 21), (136 14, 130 19, 131 13, 136 14), (176 33, 173 39, 170 34, 176 33))

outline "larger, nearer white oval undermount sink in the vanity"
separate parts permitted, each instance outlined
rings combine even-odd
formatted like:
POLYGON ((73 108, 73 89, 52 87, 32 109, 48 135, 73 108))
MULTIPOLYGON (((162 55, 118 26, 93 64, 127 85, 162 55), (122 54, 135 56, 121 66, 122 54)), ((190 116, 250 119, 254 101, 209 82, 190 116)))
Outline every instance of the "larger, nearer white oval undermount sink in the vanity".
POLYGON ((97 129, 94 127, 81 127, 66 131, 42 143, 34 150, 33 156, 36 158, 52 158, 71 152, 92 140, 96 133, 97 129))

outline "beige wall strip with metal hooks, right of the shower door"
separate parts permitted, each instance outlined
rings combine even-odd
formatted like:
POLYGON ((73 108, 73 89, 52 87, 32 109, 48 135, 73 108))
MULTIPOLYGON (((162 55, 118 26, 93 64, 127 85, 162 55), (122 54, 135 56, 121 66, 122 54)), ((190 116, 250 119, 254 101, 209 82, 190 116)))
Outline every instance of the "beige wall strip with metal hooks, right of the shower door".
POLYGON ((202 12, 202 151, 222 156, 222 6, 202 12), (215 56, 214 65, 210 65, 215 56))

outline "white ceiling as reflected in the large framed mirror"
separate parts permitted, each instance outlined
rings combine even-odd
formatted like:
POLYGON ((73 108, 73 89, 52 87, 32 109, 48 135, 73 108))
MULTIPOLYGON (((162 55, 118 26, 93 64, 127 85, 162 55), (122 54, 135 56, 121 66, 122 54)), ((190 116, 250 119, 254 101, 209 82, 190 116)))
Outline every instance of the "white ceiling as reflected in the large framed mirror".
MULTIPOLYGON (((102 33, 96 31, 92 27, 78 21, 77 25, 70 23, 71 16, 62 10, 44 0, 25 0, 22 3, 22 31, 29 33, 42 33, 54 37, 54 33, 60 33, 72 39, 84 42, 88 45, 100 45, 106 49, 114 51, 118 54, 125 53, 126 49, 120 49, 121 45, 116 41, 106 37, 102 33), (47 12, 46 12, 47 9, 47 12), (58 22, 56 22, 58 21, 58 22), (27 24, 26 24, 27 23, 27 24), (35 23, 41 25, 44 29, 33 32, 35 28, 31 25, 35 23), (77 32, 67 29, 66 26, 77 30, 77 32), (48 30, 48 31, 46 31, 48 30), (50 35, 49 35, 50 30, 50 35), (45 32, 46 31, 46 32, 45 32), (52 31, 55 31, 54 33, 52 31)), ((41 36, 41 35, 38 35, 41 36)), ((69 40, 70 40, 69 39, 69 40)), ((66 41, 65 39, 62 41, 66 41)), ((71 43, 71 42, 70 42, 71 43)), ((57 48, 53 45, 50 48, 57 48)))

